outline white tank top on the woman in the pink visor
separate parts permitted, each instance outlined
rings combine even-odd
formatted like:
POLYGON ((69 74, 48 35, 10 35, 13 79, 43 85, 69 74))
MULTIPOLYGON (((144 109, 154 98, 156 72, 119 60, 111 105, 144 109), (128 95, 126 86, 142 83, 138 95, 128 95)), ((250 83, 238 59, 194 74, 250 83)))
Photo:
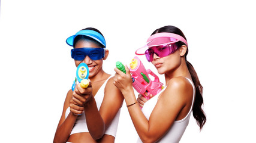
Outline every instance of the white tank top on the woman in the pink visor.
MULTIPOLYGON (((188 78, 186 78, 186 79, 188 79, 188 78)), ((186 126, 188 126, 188 122, 189 122, 189 118, 190 118, 190 115, 192 112, 192 107, 194 105, 194 98, 195 98, 194 83, 190 79, 188 79, 188 80, 191 83, 191 85, 193 86, 193 90, 194 90, 192 105, 189 110, 189 113, 182 120, 174 121, 174 123, 170 127, 170 129, 166 132, 166 134, 161 139, 159 139, 158 142, 168 142, 168 143, 179 142, 183 133, 185 132, 186 126)), ((164 91, 164 90, 165 89, 162 89, 162 91, 164 91)), ((158 101, 158 97, 162 93, 162 91, 159 92, 154 97, 152 97, 149 101, 145 102, 141 111, 143 112, 144 116, 146 116, 147 120, 149 120, 150 114, 152 113, 153 108, 155 108, 156 102, 158 101)), ((140 138, 138 138, 137 142, 142 142, 142 141, 140 138)))

